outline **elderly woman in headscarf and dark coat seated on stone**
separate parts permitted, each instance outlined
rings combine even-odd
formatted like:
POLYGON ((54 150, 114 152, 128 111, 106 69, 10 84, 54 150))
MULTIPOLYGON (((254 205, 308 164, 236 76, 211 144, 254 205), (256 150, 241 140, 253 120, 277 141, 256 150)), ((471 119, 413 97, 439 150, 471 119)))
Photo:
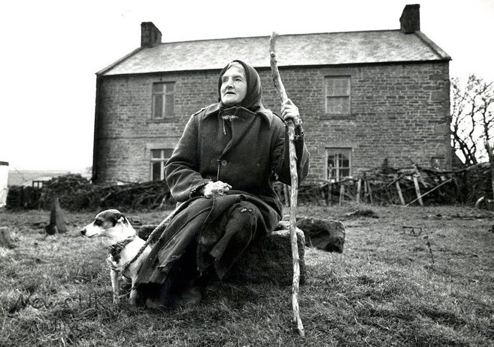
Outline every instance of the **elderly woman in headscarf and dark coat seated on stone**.
POLYGON ((165 165, 166 183, 182 204, 138 279, 160 284, 165 306, 197 301, 198 279, 221 279, 252 240, 278 225, 282 204, 273 182, 290 184, 284 120, 296 125, 299 181, 307 175, 302 122, 291 101, 281 116, 265 109, 259 75, 240 60, 221 71, 218 94, 219 103, 190 117, 165 165))

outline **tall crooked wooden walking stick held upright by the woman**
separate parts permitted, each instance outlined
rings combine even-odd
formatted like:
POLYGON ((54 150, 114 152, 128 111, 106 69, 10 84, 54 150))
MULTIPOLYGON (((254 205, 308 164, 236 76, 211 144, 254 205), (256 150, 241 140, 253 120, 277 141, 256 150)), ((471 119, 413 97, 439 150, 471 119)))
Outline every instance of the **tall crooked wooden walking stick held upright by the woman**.
MULTIPOLYGON (((276 61, 275 44, 278 34, 273 32, 269 39, 269 56, 271 64, 271 74, 273 75, 273 83, 275 85, 278 94, 280 95, 281 103, 283 104, 288 100, 287 92, 283 86, 283 82, 278 71, 278 65, 276 61)), ((297 210, 297 193, 298 193, 298 174, 297 163, 295 153, 295 124, 293 121, 288 121, 288 142, 289 142, 289 156, 290 156, 290 176, 291 176, 291 190, 290 190, 290 242, 291 242, 291 256, 293 258, 293 284, 291 288, 292 307, 293 307, 293 321, 297 325, 298 333, 300 336, 304 336, 304 327, 302 320, 300 319, 300 311, 298 309, 298 284, 300 282, 300 258, 298 257, 297 247, 297 233, 296 233, 296 210, 297 210)))

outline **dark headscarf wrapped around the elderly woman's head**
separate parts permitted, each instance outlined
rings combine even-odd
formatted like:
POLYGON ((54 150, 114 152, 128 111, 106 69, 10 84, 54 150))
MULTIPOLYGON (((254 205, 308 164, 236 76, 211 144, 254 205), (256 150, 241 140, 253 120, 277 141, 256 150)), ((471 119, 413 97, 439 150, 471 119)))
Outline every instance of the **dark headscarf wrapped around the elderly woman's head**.
POLYGON ((257 74, 257 71, 247 63, 244 63, 241 60, 234 60, 230 63, 228 63, 227 66, 221 70, 218 78, 218 101, 220 102, 221 108, 224 108, 225 105, 221 102, 221 77, 225 74, 225 72, 232 66, 232 63, 237 62, 240 65, 244 67, 244 71, 246 74, 246 81, 247 81, 247 93, 244 98, 240 102, 240 104, 235 105, 236 107, 244 107, 250 111, 255 112, 259 108, 262 107, 261 105, 261 95, 262 95, 262 89, 261 89, 261 78, 259 77, 259 74, 257 74))

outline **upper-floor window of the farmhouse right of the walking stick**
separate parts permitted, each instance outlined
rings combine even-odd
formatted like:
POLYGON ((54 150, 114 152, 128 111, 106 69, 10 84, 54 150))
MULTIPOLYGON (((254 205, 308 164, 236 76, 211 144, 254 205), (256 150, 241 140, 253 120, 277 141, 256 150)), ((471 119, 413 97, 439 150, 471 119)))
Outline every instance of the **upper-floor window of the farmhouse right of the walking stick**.
POLYGON ((327 76, 326 114, 350 116, 350 76, 327 76))

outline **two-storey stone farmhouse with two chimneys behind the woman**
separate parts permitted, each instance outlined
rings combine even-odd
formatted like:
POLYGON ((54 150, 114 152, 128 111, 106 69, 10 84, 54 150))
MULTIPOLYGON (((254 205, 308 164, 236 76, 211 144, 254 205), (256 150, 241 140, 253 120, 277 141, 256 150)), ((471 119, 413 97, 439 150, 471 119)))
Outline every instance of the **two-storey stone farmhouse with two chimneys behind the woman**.
MULTIPOLYGON (((418 4, 399 22, 396 30, 279 37, 280 74, 304 120, 309 179, 410 167, 410 158, 451 168, 451 57, 420 32, 418 4)), ((185 123, 217 102, 219 72, 234 59, 256 68, 264 106, 279 112, 270 34, 162 43, 158 28, 142 23, 141 46, 96 74, 93 182, 163 179, 185 123)))

